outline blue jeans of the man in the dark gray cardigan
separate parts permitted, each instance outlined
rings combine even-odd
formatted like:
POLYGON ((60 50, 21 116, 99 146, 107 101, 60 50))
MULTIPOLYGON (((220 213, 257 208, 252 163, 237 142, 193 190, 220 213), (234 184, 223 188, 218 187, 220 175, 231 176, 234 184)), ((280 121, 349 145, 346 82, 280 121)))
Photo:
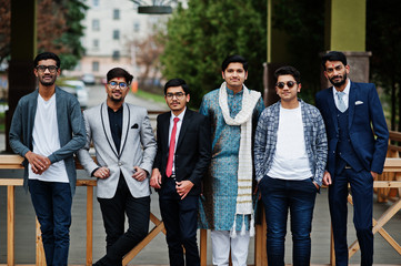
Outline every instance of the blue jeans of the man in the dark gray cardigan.
POLYGON ((42 232, 46 263, 67 266, 72 205, 70 184, 29 180, 28 185, 42 232))

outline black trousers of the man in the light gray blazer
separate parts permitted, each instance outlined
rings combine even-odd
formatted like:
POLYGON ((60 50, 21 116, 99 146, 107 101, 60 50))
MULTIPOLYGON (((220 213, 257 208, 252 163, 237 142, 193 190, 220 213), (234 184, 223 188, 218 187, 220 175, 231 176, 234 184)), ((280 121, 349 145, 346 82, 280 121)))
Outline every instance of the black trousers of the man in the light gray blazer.
POLYGON ((149 231, 150 196, 133 197, 120 175, 116 195, 99 198, 106 229, 107 255, 101 265, 121 265, 122 257, 140 243, 149 231), (124 233, 126 214, 128 231, 124 233))

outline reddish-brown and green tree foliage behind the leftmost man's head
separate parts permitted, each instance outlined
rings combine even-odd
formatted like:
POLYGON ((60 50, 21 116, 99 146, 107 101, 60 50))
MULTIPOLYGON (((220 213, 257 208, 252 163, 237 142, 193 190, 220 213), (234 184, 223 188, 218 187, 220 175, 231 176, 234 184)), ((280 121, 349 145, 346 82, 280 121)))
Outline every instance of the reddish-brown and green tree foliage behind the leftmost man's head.
MULTIPOLYGON (((0 0, 0 62, 10 55, 10 2, 0 0)), ((84 52, 80 38, 87 9, 82 0, 39 0, 38 52, 52 51, 59 54, 63 69, 74 68, 84 52)))

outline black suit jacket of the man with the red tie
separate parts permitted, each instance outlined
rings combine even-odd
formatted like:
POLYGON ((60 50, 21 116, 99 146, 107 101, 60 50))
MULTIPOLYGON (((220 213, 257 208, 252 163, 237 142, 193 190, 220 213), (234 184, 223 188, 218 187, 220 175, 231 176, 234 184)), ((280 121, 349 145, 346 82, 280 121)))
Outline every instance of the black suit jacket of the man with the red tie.
MULTIPOLYGON (((153 168, 159 168, 162 176, 162 188, 169 157, 169 127, 171 112, 158 116, 158 153, 153 168)), ((189 180, 193 187, 189 195, 201 193, 201 181, 211 160, 210 125, 207 116, 189 109, 182 120, 180 135, 176 145, 174 166, 177 181, 189 180)), ((162 190, 161 188, 161 190, 162 190)))

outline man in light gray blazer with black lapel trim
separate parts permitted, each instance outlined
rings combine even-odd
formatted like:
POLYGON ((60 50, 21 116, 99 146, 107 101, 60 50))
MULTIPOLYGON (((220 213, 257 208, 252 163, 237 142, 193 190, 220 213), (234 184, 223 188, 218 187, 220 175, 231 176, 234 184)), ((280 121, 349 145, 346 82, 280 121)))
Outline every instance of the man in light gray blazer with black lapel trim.
POLYGON ((124 103, 132 75, 114 68, 107 74, 107 100, 83 112, 87 144, 78 152, 86 171, 98 178, 98 201, 106 228, 107 254, 96 264, 122 265, 122 257, 148 234, 149 173, 157 152, 144 108, 124 103), (97 163, 89 154, 91 141, 97 163), (124 218, 129 228, 124 233, 124 218))

